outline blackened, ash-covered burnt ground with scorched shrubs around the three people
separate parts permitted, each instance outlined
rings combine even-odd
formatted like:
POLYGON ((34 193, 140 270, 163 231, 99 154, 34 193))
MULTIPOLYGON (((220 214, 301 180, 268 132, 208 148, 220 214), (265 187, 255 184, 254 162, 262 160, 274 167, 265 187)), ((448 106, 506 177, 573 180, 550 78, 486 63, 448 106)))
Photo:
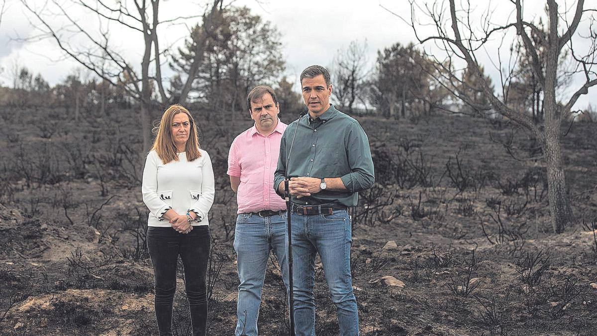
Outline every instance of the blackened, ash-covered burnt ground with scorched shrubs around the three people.
MULTIPOLYGON (((250 121, 197 119, 217 178, 208 334, 231 335, 236 202, 226 156, 250 121)), ((43 138, 34 125, 44 121, 32 120, 28 136, 0 139, 2 157, 14 158, 0 181, 2 334, 157 335, 138 137, 90 118, 43 138)), ((353 211, 362 335, 597 334, 596 124, 563 138, 576 221, 553 234, 540 151, 522 130, 466 117, 359 121, 376 164, 376 185, 353 211)), ((174 329, 187 335, 182 274, 178 285, 174 329)), ((272 262, 260 334, 288 334, 286 304, 272 262)), ((319 263, 316 304, 317 334, 337 335, 319 263)))

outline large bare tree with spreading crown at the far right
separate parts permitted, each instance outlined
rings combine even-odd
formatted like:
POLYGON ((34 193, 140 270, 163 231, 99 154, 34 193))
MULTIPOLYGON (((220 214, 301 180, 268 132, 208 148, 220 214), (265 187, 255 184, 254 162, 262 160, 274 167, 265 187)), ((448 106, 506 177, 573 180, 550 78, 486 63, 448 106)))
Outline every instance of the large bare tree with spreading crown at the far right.
POLYGON ((475 81, 481 85, 478 89, 485 93, 490 103, 490 106, 476 106, 475 110, 493 109, 503 117, 524 126, 538 140, 543 149, 543 159, 547 167, 552 227, 556 233, 561 233, 565 225, 574 219, 570 199, 567 196, 568 188, 562 163, 561 127, 562 123, 574 113, 572 107, 578 97, 587 94, 589 88, 597 84, 597 73, 594 68, 597 63, 595 28, 597 6, 595 2, 585 6, 583 0, 578 0, 573 7, 566 7, 563 11, 559 11, 555 0, 547 0, 548 24, 543 32, 537 24, 540 16, 536 13, 525 13, 522 0, 510 0, 506 3, 512 6, 510 16, 493 15, 492 8, 487 8, 478 16, 475 15, 475 13, 478 14, 475 6, 470 2, 454 0, 438 0, 425 4, 410 0, 410 17, 399 13, 394 14, 413 28, 422 45, 435 47, 433 53, 429 50, 427 52, 436 68, 442 70, 438 73, 444 78, 436 79, 441 80, 440 83, 447 83, 444 85, 469 105, 474 106, 475 101, 455 90, 463 84, 463 81, 458 76, 458 71, 453 71, 453 67, 460 63, 466 64, 466 71, 483 78, 479 56, 486 53, 495 56, 492 61, 500 71, 501 88, 498 87, 497 90, 501 89, 501 92, 496 93, 487 81, 475 81), (574 10, 571 11, 571 8, 574 10), (588 25, 588 31, 577 31, 581 21, 588 25), (427 25, 433 27, 432 33, 426 33, 429 32, 427 25), (531 34, 539 38, 533 41, 531 34), (516 64, 518 64, 516 59, 520 57, 510 43, 513 39, 521 41, 524 45, 525 54, 530 56, 529 63, 537 85, 543 90, 543 120, 533 120, 533 115, 528 112, 513 109, 507 102, 507 94, 504 94, 515 73, 516 64), (584 52, 581 55, 578 46, 583 39, 589 47, 582 48, 584 52), (496 47, 497 50, 488 50, 492 48, 490 43, 492 40, 501 41, 501 44, 496 47), (503 53, 500 54, 501 48, 504 47, 510 50, 506 53, 510 55, 509 60, 502 59, 503 53), (544 50, 543 57, 540 57, 539 50, 544 50), (564 53, 570 54, 575 63, 573 72, 580 74, 584 78, 584 83, 575 88, 576 91, 573 91, 567 101, 558 101, 563 96, 556 85, 559 76, 558 60, 564 53))

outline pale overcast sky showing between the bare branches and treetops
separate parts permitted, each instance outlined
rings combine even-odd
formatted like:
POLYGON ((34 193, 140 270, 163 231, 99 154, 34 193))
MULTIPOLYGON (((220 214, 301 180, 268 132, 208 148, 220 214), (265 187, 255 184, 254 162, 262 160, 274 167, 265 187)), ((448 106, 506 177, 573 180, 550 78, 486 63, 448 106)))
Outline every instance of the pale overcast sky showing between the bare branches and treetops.
MULTIPOLYGON (((14 39, 17 37, 31 37, 38 32, 26 19, 30 14, 23 10, 19 0, 0 0, 0 5, 2 1, 6 1, 8 10, 0 23, 0 67, 4 68, 0 74, 0 85, 11 85, 10 69, 14 68, 16 63, 26 66, 35 74, 41 73, 50 84, 60 83, 73 72, 74 68, 79 66, 65 57, 56 47, 54 41, 15 41, 14 39)), ((29 0, 29 2, 39 6, 45 0, 29 0)), ((417 2, 423 4, 425 1, 417 2)), ((525 13, 531 13, 533 16, 543 13, 544 5, 538 4, 538 2, 527 1, 525 13)), ((595 2, 597 1, 586 1, 585 6, 595 8, 597 7, 595 2)), ((190 1, 183 0, 162 0, 160 16, 167 19, 200 13, 199 5, 190 5, 189 3, 190 1)), ((489 4, 489 7, 494 10, 494 17, 498 20, 506 20, 513 10, 511 2, 508 0, 492 2, 476 0, 472 3, 478 8, 487 8, 489 4)), ((570 7, 571 4, 570 1, 558 1, 558 3, 561 8, 565 4, 570 7)), ((267 2, 236 0, 234 4, 247 5, 251 8, 252 13, 259 14, 264 20, 269 20, 282 33, 283 56, 287 62, 286 72, 289 79, 296 82, 295 87, 298 87, 296 80, 298 74, 306 66, 313 64, 330 66, 338 49, 346 48, 350 41, 364 42, 365 39, 367 40, 368 60, 371 66, 376 59, 377 50, 390 47, 395 42, 408 44, 410 41, 415 41, 413 30, 394 14, 382 8, 382 6, 386 7, 394 13, 408 17, 410 7, 407 0, 269 0, 267 2)), ((77 8, 69 7, 67 10, 75 11, 77 8)), ((78 19, 89 25, 94 24, 93 17, 85 17, 81 14, 78 19)), ((187 29, 184 25, 162 26, 161 46, 180 45, 188 36, 187 29)), ((424 29, 421 28, 418 32, 424 33, 424 29)), ((589 28, 587 25, 581 25, 578 30, 583 29, 587 31, 589 28)), ((112 34, 114 34, 113 30, 112 34)), ((140 33, 125 29, 119 29, 116 33, 118 34, 116 41, 119 42, 117 47, 128 55, 131 63, 139 63, 143 44, 140 33)), ((588 33, 586 32, 584 35, 588 35, 588 33)), ((70 42, 76 44, 76 40, 70 42)), ((491 41, 488 48, 479 53, 480 59, 485 63, 485 70, 494 81, 499 81, 499 75, 496 66, 490 62, 490 57, 495 62, 499 43, 500 41, 491 41)), ((583 45, 577 44, 576 47, 581 48, 583 45)), ((502 54, 508 48, 509 45, 503 47, 502 54)), ((571 87, 578 87, 580 80, 581 78, 576 81, 577 85, 571 85, 571 87)), ((594 96, 595 93, 597 93, 597 89, 593 87, 589 90, 588 95, 578 100, 575 107, 584 108, 589 103, 588 96, 591 94, 594 96)), ((564 96, 570 94, 564 94, 564 96)))

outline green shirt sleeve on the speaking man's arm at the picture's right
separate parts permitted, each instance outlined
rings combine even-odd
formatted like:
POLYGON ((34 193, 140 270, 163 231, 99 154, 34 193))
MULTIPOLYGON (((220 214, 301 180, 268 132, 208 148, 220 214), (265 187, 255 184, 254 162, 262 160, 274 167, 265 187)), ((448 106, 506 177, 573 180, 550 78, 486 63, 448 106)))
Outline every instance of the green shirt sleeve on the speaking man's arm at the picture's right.
POLYGON ((357 193, 373 187, 375 172, 369 139, 356 121, 350 124, 344 134, 344 145, 348 154, 350 173, 340 178, 346 189, 351 193, 357 193))

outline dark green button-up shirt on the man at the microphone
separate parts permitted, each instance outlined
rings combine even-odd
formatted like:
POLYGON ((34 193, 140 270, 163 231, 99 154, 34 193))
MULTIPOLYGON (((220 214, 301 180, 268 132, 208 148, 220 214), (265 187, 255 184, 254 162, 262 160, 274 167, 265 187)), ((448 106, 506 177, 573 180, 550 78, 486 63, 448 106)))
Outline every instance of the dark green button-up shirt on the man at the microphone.
POLYGON ((365 131, 358 121, 333 105, 318 118, 304 115, 285 130, 273 180, 273 188, 279 195, 278 185, 284 181, 287 168, 289 177, 341 178, 347 189, 322 190, 310 197, 291 197, 293 203, 303 205, 336 202, 356 206, 358 192, 371 188, 375 180, 365 131))

